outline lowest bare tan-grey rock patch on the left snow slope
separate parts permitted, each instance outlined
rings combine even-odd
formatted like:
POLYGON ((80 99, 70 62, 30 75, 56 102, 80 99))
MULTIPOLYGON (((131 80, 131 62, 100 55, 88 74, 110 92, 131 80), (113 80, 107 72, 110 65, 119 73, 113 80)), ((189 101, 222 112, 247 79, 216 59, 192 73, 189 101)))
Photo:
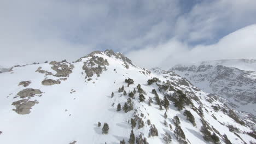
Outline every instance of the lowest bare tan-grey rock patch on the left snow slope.
POLYGON ((20 115, 26 115, 31 112, 30 109, 35 104, 38 104, 38 101, 30 101, 28 99, 22 99, 22 100, 14 101, 13 104, 11 105, 15 105, 16 109, 13 109, 15 112, 17 112, 20 115))

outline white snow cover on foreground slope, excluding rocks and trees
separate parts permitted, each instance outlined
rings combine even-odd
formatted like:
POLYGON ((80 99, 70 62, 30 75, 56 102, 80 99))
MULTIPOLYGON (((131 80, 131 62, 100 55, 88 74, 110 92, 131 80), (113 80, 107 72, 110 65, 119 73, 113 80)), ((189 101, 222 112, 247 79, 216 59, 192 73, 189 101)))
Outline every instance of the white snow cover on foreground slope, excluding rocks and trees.
MULTIPOLYGON (((128 121, 135 114, 140 113, 143 113, 145 116, 145 118, 142 118, 144 122, 150 119, 151 123, 155 124, 155 127, 158 129, 159 136, 153 137, 148 137, 150 126, 146 123, 141 129, 137 127, 133 129, 136 137, 142 134, 143 137, 147 137, 149 143, 164 143, 162 137, 165 131, 170 133, 172 143, 179 143, 174 136, 175 126, 172 122, 174 116, 179 117, 181 128, 186 136, 186 141, 189 143, 209 143, 203 140, 202 133, 200 132, 202 126, 200 119, 204 119, 211 127, 219 131, 217 136, 220 139, 220 143, 224 143, 224 134, 227 135, 232 143, 244 143, 243 141, 246 143, 250 141, 256 142, 253 137, 246 134, 252 132, 252 129, 247 125, 254 125, 255 123, 246 118, 246 115, 243 113, 240 114, 245 117, 243 122, 246 125, 236 123, 234 119, 222 111, 214 111, 211 107, 212 105, 218 104, 220 107, 225 107, 224 104, 218 100, 212 100, 210 103, 209 99, 212 98, 207 96, 207 93, 199 91, 182 77, 156 69, 154 73, 150 73, 147 70, 136 67, 136 65, 125 63, 124 60, 114 56, 114 54, 107 54, 108 51, 97 52, 72 63, 74 65, 72 73, 66 77, 54 76, 56 71, 51 68, 53 65, 49 63, 15 67, 11 72, 0 74, 0 131, 2 131, 0 143, 68 144, 74 141, 78 144, 119 143, 123 139, 127 143, 131 133, 131 125, 128 121), (107 59, 109 65, 104 65, 106 70, 102 71, 98 76, 94 74, 90 77, 91 80, 89 80, 89 77, 86 77, 83 66, 84 62, 87 63, 92 57, 107 59), (124 63, 129 65, 129 68, 124 63), (47 73, 42 71, 38 73, 39 67, 42 67, 40 70, 47 71, 47 73), (127 83, 124 82, 128 77, 135 81, 134 85, 130 85, 130 87, 127 87, 127 83), (193 106, 185 106, 185 109, 189 110, 195 117, 195 127, 183 115, 184 109, 178 111, 172 101, 170 101, 168 111, 159 110, 159 106, 155 104, 153 99, 152 89, 156 89, 160 99, 164 98, 164 94, 171 95, 174 91, 159 92, 159 86, 155 83, 150 86, 147 85, 148 79, 152 79, 152 77, 158 77, 161 81, 165 82, 167 80, 170 81, 174 89, 181 89, 184 93, 187 93, 189 98, 198 97, 197 100, 191 98, 193 106), (67 79, 64 80, 65 78, 67 79), (59 80, 61 83, 42 85, 42 81, 45 79, 59 80), (21 81, 31 81, 31 83, 27 87, 18 86, 21 81), (182 84, 184 82, 185 85, 182 84), (127 98, 129 98, 127 95, 125 96, 123 93, 118 92, 119 87, 124 85, 125 91, 129 93, 139 83, 144 91, 147 92, 147 95, 145 95, 146 100, 149 97, 153 99, 154 103, 152 106, 148 106, 146 102, 139 103, 138 93, 136 93, 135 99, 132 99, 134 110, 127 113, 123 110, 117 112, 117 104, 120 103, 123 106, 127 98), (15 109, 15 106, 11 104, 21 99, 16 97, 16 94, 26 88, 39 89, 43 93, 42 95, 36 94, 33 97, 29 97, 28 100, 38 101, 39 103, 32 106, 30 113, 20 115, 12 110, 15 109), (112 92, 114 92, 113 98, 111 98, 112 92), (199 106, 203 107, 204 116, 197 114, 196 109, 199 106), (172 125, 172 129, 165 127, 163 124, 165 111, 168 116, 166 121, 172 125), (98 122, 101 122, 102 125, 103 123, 108 123, 108 135, 101 133, 102 125, 97 127, 98 122), (238 128, 240 132, 236 133, 240 137, 229 131, 227 125, 233 125, 238 128)), ((60 64, 71 66, 71 64, 66 62, 60 64)), ((92 67, 97 68, 96 66, 92 67)), ((158 84, 162 83, 158 82, 158 84)), ((226 109, 228 110, 228 108, 226 109)), ((215 131, 215 133, 217 132, 215 131)))

